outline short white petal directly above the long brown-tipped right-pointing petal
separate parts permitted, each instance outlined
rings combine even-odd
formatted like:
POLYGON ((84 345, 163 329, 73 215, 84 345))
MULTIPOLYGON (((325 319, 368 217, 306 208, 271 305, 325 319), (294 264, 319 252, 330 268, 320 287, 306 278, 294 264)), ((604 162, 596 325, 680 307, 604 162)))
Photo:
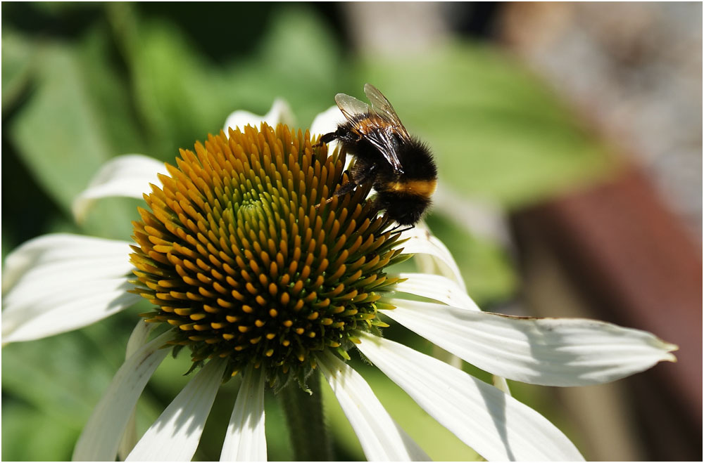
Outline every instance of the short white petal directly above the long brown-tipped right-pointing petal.
POLYGON ((399 273, 394 276, 406 278, 406 281, 396 283, 391 288, 394 291, 427 297, 451 306, 466 308, 470 311, 480 310, 460 285, 444 276, 430 273, 399 273))

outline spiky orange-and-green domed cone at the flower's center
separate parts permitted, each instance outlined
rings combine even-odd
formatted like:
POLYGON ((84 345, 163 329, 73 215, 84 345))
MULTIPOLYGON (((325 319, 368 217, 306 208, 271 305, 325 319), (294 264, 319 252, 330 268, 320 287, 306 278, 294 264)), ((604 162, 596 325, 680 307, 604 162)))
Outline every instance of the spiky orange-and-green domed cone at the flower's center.
POLYGON ((344 356, 358 330, 383 325, 375 301, 396 282, 383 270, 399 259, 398 234, 365 201, 368 186, 332 197, 344 155, 280 124, 180 155, 145 195, 131 261, 134 291, 156 306, 142 316, 172 325, 196 364, 305 375, 312 353, 344 356))

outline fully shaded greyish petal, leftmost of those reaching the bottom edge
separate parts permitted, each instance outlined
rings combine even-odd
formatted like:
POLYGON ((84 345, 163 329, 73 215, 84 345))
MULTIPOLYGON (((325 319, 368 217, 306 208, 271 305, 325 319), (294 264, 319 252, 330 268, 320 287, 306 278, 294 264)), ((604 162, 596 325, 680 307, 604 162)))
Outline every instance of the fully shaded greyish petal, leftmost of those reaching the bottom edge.
POLYGON ((120 438, 134 405, 151 374, 170 352, 162 347, 172 337, 170 332, 162 334, 139 348, 122 364, 78 438, 73 450, 74 461, 115 461, 120 438))

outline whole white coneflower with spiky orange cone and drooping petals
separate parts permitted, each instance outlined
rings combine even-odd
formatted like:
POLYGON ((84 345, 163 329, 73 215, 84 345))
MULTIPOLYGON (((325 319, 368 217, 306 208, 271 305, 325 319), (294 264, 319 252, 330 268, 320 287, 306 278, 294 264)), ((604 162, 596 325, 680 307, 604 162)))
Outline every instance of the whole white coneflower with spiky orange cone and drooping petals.
POLYGON ((427 459, 347 365, 354 349, 486 459, 582 459, 527 405, 381 337, 380 313, 482 370, 533 384, 599 384, 674 360, 675 346, 647 332, 479 311, 443 244, 418 228, 393 233, 367 202, 368 187, 325 204, 346 181, 344 153, 329 153, 314 146, 308 131, 277 124, 285 108, 275 105, 271 125, 245 126, 246 115, 228 122, 194 151, 181 150, 176 166, 164 169, 135 155, 108 164, 77 201, 77 214, 97 197, 136 196, 163 171, 134 223, 137 245, 47 235, 6 259, 4 342, 75 329, 142 298, 153 305, 85 426, 75 459, 114 460, 130 449, 127 459, 191 459, 215 393, 234 374, 242 383, 222 460, 266 459, 266 387, 289 394, 284 402, 298 436, 296 455, 330 459, 325 448, 306 453, 315 432, 325 432, 315 417, 320 372, 367 459, 427 459), (389 266, 411 254, 433 259, 454 278, 393 273, 389 266), (149 340, 153 327, 160 334, 149 340), (121 446, 137 399, 171 351, 165 346, 190 352, 194 377, 134 448, 129 441, 121 446), (301 393, 307 388, 317 393, 310 401, 301 393), (309 409, 313 418, 303 418, 309 409))

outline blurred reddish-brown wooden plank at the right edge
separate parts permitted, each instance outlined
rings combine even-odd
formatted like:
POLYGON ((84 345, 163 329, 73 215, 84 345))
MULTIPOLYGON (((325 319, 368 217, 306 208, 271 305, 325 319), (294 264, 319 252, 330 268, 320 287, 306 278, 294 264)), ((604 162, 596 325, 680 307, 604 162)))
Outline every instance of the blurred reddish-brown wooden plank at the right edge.
POLYGON ((684 418, 670 429, 689 426, 700 439, 702 249, 648 179, 625 169, 609 183, 514 214, 513 226, 520 246, 536 237, 548 244, 595 318, 648 330, 679 346, 677 363, 639 375, 653 381, 645 393, 641 382, 636 400, 659 398, 660 407, 649 407, 658 414, 650 417, 660 421, 656 426, 684 418))

